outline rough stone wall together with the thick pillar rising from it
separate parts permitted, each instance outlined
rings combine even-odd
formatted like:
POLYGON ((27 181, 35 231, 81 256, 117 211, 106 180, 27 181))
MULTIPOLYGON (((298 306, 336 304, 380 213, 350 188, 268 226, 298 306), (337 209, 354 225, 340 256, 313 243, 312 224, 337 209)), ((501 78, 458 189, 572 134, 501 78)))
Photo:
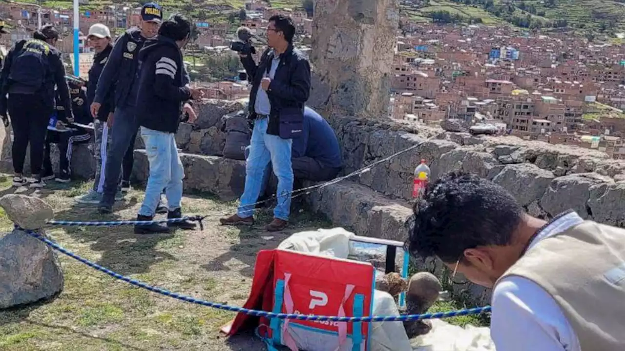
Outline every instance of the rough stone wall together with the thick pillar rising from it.
MULTIPOLYGON (((369 172, 312 191, 307 196, 312 210, 357 235, 405 240, 414 167, 426 159, 432 178, 456 170, 475 172, 505 187, 537 217, 549 219, 574 209, 586 219, 625 225, 621 206, 625 161, 580 147, 509 136, 471 136, 391 121, 387 86, 396 2, 317 0, 315 6, 317 39, 311 54, 314 86, 309 106, 321 111, 334 127, 344 156, 343 174, 421 144, 369 172)), ((206 100, 197 106, 195 124, 181 124, 176 142, 183 152, 186 190, 211 192, 222 200, 242 194, 245 164, 221 157, 225 141, 221 126, 223 116, 243 108, 243 101, 206 100)), ((5 140, 0 165, 7 161, 6 145, 5 140)), ((78 157, 89 157, 89 152, 74 154, 73 163, 84 164, 78 157)), ((133 173, 136 180, 147 180, 148 159, 141 148, 135 151, 133 173)), ((417 259, 416 264, 439 277, 445 274, 436 260, 417 259)), ((468 305, 489 303, 489 291, 468 282, 454 282, 452 292, 468 305)))

